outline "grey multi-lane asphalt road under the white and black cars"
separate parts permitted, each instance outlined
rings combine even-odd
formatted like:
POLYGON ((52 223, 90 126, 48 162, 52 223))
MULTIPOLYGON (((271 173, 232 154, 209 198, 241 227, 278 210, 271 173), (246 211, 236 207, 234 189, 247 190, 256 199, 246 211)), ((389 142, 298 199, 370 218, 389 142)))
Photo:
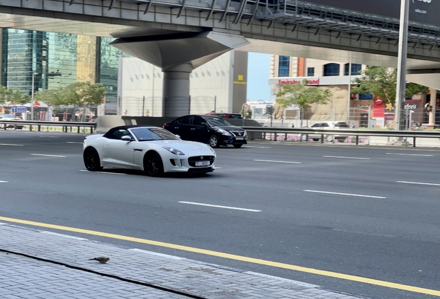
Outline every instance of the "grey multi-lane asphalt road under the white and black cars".
POLYGON ((86 235, 356 296, 439 298, 409 291, 440 290, 438 148, 252 142, 216 149, 210 174, 151 178, 87 172, 84 136, 0 131, 0 217, 166 242, 86 235))

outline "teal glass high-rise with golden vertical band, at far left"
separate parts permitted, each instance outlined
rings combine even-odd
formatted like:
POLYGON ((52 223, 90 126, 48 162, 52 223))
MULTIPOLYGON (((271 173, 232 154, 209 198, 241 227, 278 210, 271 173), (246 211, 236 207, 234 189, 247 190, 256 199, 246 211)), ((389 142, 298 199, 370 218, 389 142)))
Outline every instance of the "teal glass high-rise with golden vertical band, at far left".
MULTIPOLYGON (((102 83, 109 88, 107 103, 116 105, 118 61, 127 56, 110 46, 107 37, 0 29, 1 85, 32 94, 66 87, 77 81, 102 83)), ((113 109, 109 113, 113 114, 113 109)))

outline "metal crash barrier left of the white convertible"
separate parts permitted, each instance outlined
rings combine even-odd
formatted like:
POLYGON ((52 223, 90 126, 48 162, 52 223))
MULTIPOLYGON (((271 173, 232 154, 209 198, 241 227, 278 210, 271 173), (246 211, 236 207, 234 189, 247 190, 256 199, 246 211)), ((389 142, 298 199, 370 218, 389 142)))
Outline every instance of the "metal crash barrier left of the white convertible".
POLYGON ((82 131, 85 133, 85 128, 90 128, 90 133, 93 134, 93 129, 95 129, 95 123, 84 123, 84 122, 52 122, 52 121, 44 121, 44 120, 0 120, 0 127, 3 129, 8 129, 11 125, 14 126, 14 129, 20 127, 29 127, 29 130, 32 131, 33 127, 37 127, 37 131, 42 131, 42 127, 62 127, 63 132, 73 131, 72 128, 77 128, 77 133, 82 131))

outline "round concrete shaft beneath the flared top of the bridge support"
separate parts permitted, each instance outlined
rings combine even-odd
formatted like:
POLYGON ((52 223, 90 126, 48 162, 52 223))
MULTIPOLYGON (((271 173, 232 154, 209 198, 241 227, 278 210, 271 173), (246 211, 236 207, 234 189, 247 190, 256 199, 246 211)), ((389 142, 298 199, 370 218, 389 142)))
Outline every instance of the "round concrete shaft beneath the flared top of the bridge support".
POLYGON ((181 64, 163 73, 164 116, 190 114, 191 64, 181 64))

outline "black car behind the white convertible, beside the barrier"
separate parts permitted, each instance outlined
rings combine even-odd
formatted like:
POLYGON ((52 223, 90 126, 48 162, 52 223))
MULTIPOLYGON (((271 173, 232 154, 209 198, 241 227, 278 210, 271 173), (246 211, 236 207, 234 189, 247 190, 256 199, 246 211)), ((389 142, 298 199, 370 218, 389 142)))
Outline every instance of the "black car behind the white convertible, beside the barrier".
POLYGON ((165 123, 164 129, 186 141, 208 143, 211 147, 233 145, 241 147, 247 143, 248 134, 225 119, 214 115, 187 115, 165 123))

